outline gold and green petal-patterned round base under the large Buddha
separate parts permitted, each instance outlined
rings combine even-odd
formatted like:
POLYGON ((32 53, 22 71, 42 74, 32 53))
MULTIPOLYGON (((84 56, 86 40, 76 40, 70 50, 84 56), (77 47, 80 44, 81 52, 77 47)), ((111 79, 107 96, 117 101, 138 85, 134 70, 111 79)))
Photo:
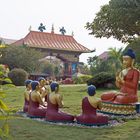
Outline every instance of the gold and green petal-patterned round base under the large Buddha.
POLYGON ((102 109, 98 112, 109 115, 134 115, 140 113, 140 103, 115 104, 111 102, 102 102, 102 109))

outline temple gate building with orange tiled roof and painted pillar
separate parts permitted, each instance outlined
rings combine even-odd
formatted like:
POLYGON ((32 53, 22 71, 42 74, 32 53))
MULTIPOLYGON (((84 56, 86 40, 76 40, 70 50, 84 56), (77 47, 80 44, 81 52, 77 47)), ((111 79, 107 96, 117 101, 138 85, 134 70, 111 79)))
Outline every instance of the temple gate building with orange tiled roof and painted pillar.
POLYGON ((30 31, 24 38, 12 43, 14 46, 26 45, 42 51, 47 57, 56 57, 63 63, 64 77, 71 77, 77 72, 79 56, 91 50, 78 43, 72 35, 56 34, 53 31, 30 31))

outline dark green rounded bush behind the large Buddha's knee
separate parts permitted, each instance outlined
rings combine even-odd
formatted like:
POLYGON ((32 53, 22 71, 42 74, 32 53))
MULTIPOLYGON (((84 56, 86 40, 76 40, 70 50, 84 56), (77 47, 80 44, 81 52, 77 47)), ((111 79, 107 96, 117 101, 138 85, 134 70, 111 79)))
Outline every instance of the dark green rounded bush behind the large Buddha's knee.
POLYGON ((96 88, 114 88, 115 76, 111 73, 101 72, 94 75, 93 78, 87 81, 88 85, 95 85, 96 88))

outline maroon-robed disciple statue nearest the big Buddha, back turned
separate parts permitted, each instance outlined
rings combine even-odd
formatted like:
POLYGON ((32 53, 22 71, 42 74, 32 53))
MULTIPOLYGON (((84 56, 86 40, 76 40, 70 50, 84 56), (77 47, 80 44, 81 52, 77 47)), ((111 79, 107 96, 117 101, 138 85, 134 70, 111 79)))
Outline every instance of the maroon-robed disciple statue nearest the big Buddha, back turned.
POLYGON ((88 86, 88 96, 82 100, 82 113, 76 117, 77 123, 85 125, 105 125, 108 124, 108 116, 97 113, 97 109, 101 109, 101 100, 95 97, 96 87, 88 86))

